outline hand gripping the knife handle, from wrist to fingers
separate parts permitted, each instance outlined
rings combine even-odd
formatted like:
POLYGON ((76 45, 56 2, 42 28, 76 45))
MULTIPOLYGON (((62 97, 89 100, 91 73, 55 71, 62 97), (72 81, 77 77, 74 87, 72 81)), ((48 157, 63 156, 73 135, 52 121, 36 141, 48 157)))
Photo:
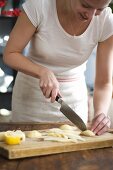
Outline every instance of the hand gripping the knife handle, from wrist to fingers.
POLYGON ((41 69, 40 88, 46 98, 51 98, 51 102, 55 102, 56 96, 59 94, 59 82, 54 73, 47 68, 41 69))

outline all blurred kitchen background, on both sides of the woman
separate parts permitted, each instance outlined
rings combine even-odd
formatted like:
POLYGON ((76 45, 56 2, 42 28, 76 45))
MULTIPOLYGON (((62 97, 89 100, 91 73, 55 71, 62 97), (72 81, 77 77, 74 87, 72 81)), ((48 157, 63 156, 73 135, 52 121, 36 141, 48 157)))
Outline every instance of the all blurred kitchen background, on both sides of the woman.
MULTIPOLYGON (((16 71, 3 63, 3 51, 8 41, 9 34, 21 12, 22 3, 25 0, 0 0, 0 121, 10 121, 11 118, 11 97, 12 89, 16 77, 16 71)), ((110 4, 113 9, 113 1, 110 4)), ((27 53, 28 46, 24 53, 27 53)), ((93 118, 93 89, 95 78, 95 57, 96 49, 92 52, 85 72, 86 82, 89 91, 89 120, 93 118)), ((110 106, 110 116, 112 115, 113 104, 110 106)))

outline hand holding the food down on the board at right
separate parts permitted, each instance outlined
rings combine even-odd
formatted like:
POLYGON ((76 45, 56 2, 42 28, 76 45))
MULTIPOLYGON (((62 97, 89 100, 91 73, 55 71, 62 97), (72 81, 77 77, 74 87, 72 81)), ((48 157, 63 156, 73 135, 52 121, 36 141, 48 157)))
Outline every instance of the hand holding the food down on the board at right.
POLYGON ((110 128, 111 121, 109 116, 106 116, 104 113, 101 113, 92 121, 91 131, 93 131, 96 135, 102 135, 107 132, 110 128))

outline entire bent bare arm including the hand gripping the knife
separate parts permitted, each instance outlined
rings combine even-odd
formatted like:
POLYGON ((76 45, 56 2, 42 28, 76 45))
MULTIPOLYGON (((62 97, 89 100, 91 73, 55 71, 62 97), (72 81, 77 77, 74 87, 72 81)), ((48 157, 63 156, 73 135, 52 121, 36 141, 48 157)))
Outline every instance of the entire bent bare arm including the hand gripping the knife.
POLYGON ((40 79, 40 88, 46 98, 54 102, 59 92, 59 83, 54 73, 42 65, 35 64, 23 56, 22 51, 30 41, 36 28, 25 12, 19 16, 4 51, 4 62, 15 70, 40 79))

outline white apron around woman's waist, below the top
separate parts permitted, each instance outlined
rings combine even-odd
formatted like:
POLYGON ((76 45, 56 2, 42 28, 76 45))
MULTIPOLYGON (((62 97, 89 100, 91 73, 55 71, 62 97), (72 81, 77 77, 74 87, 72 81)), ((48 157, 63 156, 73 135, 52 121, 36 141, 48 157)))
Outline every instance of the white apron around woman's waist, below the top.
MULTIPOLYGON (((87 88, 84 76, 77 79, 58 78, 63 100, 87 122, 87 88)), ((12 121, 63 122, 68 119, 60 112, 60 104, 46 99, 39 79, 18 73, 13 88, 12 121)))

